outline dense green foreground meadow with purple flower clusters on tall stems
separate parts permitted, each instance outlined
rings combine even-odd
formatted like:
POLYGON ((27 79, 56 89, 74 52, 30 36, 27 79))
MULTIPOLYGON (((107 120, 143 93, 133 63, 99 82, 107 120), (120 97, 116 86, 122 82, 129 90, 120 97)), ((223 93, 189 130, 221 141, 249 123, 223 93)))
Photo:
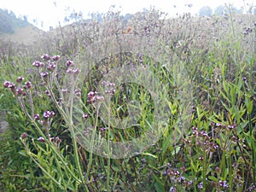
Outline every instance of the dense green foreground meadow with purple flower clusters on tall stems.
POLYGON ((255 15, 164 18, 0 42, 0 189, 256 190, 255 15))

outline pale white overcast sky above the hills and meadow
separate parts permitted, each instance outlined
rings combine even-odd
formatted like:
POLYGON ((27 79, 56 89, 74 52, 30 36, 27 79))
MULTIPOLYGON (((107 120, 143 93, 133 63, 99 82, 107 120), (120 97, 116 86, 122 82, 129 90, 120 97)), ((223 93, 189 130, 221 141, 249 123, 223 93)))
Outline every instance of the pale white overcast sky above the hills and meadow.
POLYGON ((149 9, 150 6, 154 6, 155 9, 169 15, 176 15, 183 12, 197 14, 203 6, 214 9, 224 3, 231 3, 240 9, 247 3, 252 5, 254 2, 253 0, 1 0, 0 9, 12 10, 16 16, 26 15, 27 20, 32 23, 37 19, 39 28, 42 28, 41 21, 43 21, 43 29, 47 31, 49 26, 58 26, 59 21, 64 25, 62 20, 73 9, 76 12, 81 11, 86 19, 90 13, 108 12, 111 5, 115 5, 115 9, 120 10, 121 14, 134 14, 142 11, 143 8, 149 9), (193 6, 189 8, 185 4, 193 4, 193 6))

